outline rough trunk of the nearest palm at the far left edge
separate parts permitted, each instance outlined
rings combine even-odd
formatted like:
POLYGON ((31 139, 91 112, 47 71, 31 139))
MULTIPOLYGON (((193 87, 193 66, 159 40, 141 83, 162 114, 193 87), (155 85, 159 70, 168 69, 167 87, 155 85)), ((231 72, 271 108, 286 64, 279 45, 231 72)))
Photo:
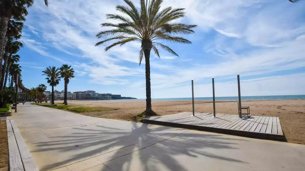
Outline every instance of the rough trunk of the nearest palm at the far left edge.
MULTIPOLYGON (((9 23, 9 18, 10 17, 0 15, 0 73, 2 73, 3 54, 6 45, 6 32, 9 23)), ((0 74, 0 79, 1 77, 2 75, 0 74)))

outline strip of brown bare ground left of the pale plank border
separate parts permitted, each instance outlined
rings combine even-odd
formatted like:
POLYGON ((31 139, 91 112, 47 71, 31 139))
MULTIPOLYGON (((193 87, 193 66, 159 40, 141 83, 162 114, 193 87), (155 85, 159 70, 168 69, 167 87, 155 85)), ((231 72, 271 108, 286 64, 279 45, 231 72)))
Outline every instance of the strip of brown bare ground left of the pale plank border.
POLYGON ((7 141, 6 120, 0 121, 0 170, 9 171, 9 145, 7 141))

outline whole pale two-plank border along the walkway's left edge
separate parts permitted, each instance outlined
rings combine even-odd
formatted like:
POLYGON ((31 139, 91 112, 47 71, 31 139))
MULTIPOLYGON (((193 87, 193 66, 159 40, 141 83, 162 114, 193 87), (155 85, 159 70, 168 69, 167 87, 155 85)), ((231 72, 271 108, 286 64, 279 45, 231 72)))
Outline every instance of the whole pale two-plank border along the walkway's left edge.
POLYGON ((10 171, 39 171, 14 120, 6 120, 10 171))

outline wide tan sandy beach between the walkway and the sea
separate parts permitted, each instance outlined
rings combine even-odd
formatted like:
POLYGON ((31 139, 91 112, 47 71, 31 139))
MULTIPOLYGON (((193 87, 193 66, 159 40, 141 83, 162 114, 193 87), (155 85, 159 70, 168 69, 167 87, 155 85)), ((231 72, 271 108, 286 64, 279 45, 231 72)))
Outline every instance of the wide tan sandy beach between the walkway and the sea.
MULTIPOLYGON (((58 103, 60 101, 56 101, 58 103)), ((195 101, 195 112, 213 112, 211 101, 195 101)), ((119 110, 82 113, 88 116, 131 120, 131 117, 145 110, 145 101, 72 101, 74 105, 104 106, 120 108, 119 110)), ((252 115, 279 117, 288 142, 305 144, 305 100, 264 100, 242 101, 250 106, 252 115)), ((152 110, 159 115, 192 112, 192 101, 152 101, 152 110)), ((216 113, 238 114, 237 102, 217 102, 216 113)))

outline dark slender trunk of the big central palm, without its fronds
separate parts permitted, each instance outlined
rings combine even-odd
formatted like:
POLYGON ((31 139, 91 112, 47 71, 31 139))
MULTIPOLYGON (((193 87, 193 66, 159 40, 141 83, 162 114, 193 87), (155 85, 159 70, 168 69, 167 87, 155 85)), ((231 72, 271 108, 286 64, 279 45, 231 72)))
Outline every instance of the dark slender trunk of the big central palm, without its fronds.
POLYGON ((150 87, 150 49, 144 50, 145 56, 145 79, 146 79, 146 116, 152 116, 152 99, 151 99, 151 87, 150 87))

